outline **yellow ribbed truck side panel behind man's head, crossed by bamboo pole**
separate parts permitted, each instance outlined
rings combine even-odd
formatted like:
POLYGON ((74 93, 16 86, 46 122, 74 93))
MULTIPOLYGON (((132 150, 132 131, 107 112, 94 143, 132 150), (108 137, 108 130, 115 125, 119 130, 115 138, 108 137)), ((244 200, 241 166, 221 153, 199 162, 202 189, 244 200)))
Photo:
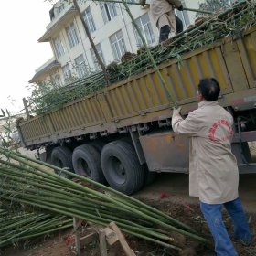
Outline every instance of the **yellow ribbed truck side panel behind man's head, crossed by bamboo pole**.
POLYGON ((185 56, 181 63, 172 60, 161 65, 159 69, 168 86, 168 92, 157 73, 152 70, 106 89, 105 98, 112 112, 110 122, 122 123, 124 119, 134 121, 137 116, 166 109, 172 103, 168 94, 180 104, 184 104, 184 100, 196 101, 197 82, 202 77, 216 77, 222 85, 222 93, 232 92, 229 72, 220 46, 197 50, 193 55, 185 56))

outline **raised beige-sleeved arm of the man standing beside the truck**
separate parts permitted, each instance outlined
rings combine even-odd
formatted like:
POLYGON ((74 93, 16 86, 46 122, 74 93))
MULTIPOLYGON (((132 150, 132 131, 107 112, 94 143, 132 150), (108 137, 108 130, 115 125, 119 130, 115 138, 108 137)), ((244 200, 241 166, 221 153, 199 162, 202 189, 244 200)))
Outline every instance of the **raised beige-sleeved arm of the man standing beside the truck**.
POLYGON ((180 109, 173 111, 172 127, 175 133, 190 134, 196 136, 201 129, 201 120, 197 111, 190 112, 186 119, 180 115, 180 109))

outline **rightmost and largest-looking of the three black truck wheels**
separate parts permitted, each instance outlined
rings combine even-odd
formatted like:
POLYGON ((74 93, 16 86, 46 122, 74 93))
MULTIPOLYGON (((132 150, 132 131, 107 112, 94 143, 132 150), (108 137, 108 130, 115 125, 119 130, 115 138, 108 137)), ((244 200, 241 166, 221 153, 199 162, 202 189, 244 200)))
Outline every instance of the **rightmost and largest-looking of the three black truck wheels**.
POLYGON ((144 167, 133 146, 124 141, 106 144, 101 152, 101 166, 110 186, 131 195, 144 185, 144 167))

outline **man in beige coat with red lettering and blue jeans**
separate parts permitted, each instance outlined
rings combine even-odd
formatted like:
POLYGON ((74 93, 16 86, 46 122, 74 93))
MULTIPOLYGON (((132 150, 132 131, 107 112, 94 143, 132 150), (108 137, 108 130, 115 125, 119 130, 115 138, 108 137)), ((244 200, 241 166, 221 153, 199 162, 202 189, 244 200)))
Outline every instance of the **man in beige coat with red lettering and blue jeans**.
POLYGON ((231 152, 233 118, 218 103, 219 83, 203 79, 198 85, 198 109, 186 119, 173 111, 176 133, 189 134, 189 195, 199 197, 218 256, 237 256, 222 220, 222 206, 234 224, 234 239, 251 244, 251 231, 238 195, 239 171, 231 152))

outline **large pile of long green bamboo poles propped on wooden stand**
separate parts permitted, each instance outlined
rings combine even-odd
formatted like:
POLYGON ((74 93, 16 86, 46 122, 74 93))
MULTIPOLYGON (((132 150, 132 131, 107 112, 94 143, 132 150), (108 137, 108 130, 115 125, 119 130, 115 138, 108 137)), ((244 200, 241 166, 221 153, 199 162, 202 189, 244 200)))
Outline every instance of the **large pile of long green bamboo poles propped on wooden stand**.
POLYGON ((22 203, 103 226, 114 221, 127 234, 176 251, 183 249, 183 245, 176 241, 176 233, 189 240, 210 245, 208 240, 186 224, 111 187, 5 148, 0 147, 0 154, 15 160, 15 163, 11 163, 0 159, 1 200, 22 203), (74 177, 76 182, 49 172, 46 166, 55 172, 74 177))

